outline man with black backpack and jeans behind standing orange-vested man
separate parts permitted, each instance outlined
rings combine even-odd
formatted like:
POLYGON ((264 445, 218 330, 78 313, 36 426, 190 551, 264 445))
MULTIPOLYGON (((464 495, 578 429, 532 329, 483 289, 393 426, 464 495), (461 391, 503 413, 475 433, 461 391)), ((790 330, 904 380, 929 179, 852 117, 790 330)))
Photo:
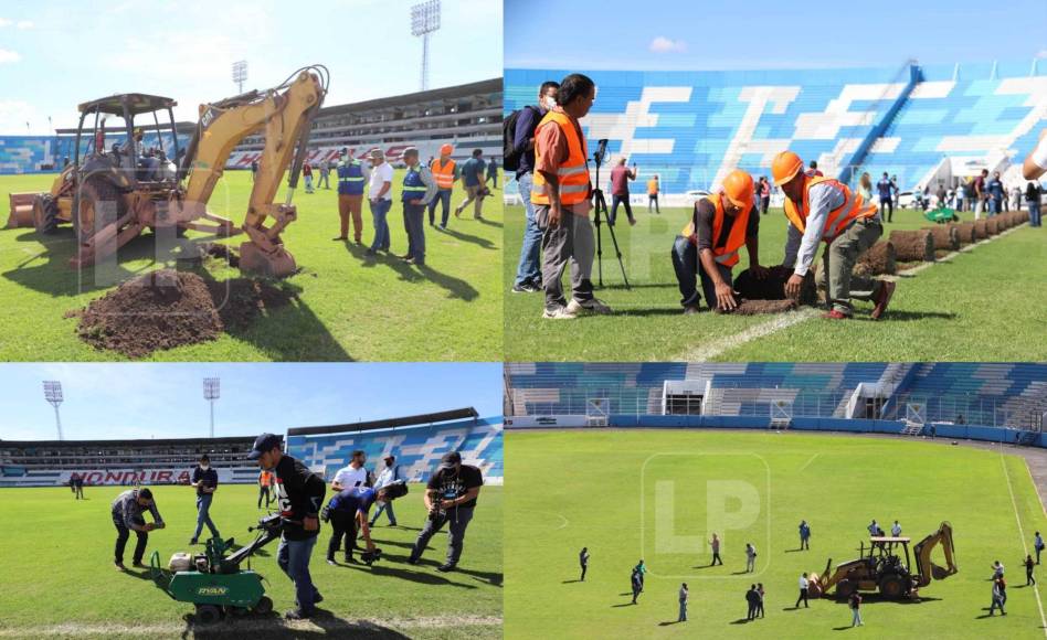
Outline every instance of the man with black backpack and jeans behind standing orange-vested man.
POLYGON ((535 220, 535 205, 531 204, 531 186, 535 179, 535 130, 538 122, 557 104, 560 84, 548 81, 538 90, 538 105, 526 106, 514 111, 503 125, 505 146, 503 167, 506 172, 516 175, 527 226, 524 228, 524 246, 520 247, 520 262, 516 269, 514 294, 532 294, 541 290, 541 230, 535 220))

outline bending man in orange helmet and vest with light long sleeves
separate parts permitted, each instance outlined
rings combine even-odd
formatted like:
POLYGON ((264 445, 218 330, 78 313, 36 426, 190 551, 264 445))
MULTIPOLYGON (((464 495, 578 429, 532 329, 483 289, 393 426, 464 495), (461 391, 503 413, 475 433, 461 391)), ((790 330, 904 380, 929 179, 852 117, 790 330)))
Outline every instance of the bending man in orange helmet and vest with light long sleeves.
POLYGON ((878 320, 891 296, 895 284, 874 280, 871 291, 852 291, 850 271, 858 257, 884 234, 876 204, 865 202, 846 184, 832 178, 815 177, 803 170, 803 161, 792 151, 782 151, 771 163, 774 183, 785 193, 785 216, 789 236, 783 265, 793 269, 785 282, 785 294, 800 296, 803 278, 814 263, 818 242, 828 245, 822 252, 819 280, 826 285, 826 302, 831 309, 824 318, 846 320, 854 314, 850 300, 875 303, 870 317, 878 320))

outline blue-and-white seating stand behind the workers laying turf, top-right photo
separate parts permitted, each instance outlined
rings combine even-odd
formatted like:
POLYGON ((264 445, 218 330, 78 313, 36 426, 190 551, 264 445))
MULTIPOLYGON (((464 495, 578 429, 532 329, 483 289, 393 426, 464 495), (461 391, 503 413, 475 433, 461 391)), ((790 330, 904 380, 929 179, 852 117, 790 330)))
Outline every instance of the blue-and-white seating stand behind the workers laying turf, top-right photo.
MULTIPOLYGON (((543 81, 567 73, 506 70, 506 114, 533 102, 543 81)), ((585 73, 597 85, 582 122, 586 136, 607 138, 612 156, 635 161, 637 182, 657 173, 670 202, 715 188, 736 167, 770 175, 771 159, 785 148, 846 182, 861 171, 888 171, 906 190, 931 180, 951 186, 983 167, 1020 164, 1018 156, 1032 149, 1047 120, 1047 68, 1035 61, 585 73)))

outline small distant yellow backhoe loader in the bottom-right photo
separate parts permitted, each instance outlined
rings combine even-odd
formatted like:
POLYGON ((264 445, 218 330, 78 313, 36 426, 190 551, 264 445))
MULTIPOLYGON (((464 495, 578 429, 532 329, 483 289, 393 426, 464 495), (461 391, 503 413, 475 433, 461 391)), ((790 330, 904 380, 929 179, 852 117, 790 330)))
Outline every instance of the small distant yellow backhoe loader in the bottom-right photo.
POLYGON ((884 598, 902 599, 919 597, 920 587, 931 584, 932 579, 942 580, 955 574, 955 547, 952 542, 952 526, 941 523, 938 531, 928 535, 913 547, 916 566, 910 564, 908 537, 872 536, 869 538, 868 553, 861 545, 861 557, 836 566, 833 559, 825 565, 823 574, 813 574, 810 582, 811 597, 827 596, 835 588, 837 599, 847 599, 855 591, 879 591, 884 598), (931 552, 941 545, 945 556, 945 566, 931 562, 931 552), (902 557, 902 555, 905 557, 902 557))

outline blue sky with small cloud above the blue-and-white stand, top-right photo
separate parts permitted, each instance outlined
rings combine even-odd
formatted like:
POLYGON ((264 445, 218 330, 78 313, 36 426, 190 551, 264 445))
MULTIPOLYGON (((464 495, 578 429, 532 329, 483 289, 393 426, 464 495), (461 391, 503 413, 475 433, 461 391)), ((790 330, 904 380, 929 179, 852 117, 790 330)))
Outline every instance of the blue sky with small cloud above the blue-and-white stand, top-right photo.
MULTIPOLYGON (((1047 1, 507 0, 507 68, 743 70, 1047 57, 1047 1), (569 36, 548 30, 550 20, 569 36)), ((1047 65, 1047 60, 1040 62, 1047 65)))

